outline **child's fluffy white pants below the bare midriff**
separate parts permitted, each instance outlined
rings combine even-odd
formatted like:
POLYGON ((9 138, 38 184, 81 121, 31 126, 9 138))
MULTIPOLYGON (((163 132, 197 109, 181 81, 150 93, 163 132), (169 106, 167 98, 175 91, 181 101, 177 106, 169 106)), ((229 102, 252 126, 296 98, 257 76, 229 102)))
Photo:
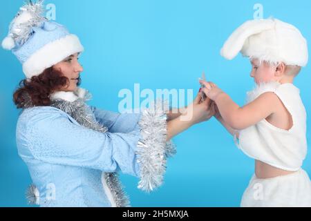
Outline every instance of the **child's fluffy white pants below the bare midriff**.
POLYGON ((311 206, 311 181, 300 169, 295 173, 258 179, 253 175, 245 190, 242 207, 296 207, 311 206))

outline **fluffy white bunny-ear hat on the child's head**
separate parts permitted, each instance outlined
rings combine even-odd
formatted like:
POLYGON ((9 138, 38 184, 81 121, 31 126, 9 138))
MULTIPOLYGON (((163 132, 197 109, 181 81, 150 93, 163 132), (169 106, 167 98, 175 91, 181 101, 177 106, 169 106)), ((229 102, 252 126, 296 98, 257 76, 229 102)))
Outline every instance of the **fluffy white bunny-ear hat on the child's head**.
POLYGON ((233 59, 241 52, 249 58, 305 66, 308 63, 307 41, 301 32, 278 19, 246 21, 227 39, 220 54, 233 59))

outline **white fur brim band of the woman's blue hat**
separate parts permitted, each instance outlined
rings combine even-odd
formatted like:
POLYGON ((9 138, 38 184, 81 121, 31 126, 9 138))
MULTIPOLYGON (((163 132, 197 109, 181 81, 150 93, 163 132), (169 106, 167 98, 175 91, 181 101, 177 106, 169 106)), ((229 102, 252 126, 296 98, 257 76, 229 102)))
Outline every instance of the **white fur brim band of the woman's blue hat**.
POLYGON ((46 68, 57 64, 66 57, 84 50, 79 38, 76 35, 67 35, 62 39, 52 41, 34 54, 23 63, 23 73, 30 79, 40 75, 46 68))

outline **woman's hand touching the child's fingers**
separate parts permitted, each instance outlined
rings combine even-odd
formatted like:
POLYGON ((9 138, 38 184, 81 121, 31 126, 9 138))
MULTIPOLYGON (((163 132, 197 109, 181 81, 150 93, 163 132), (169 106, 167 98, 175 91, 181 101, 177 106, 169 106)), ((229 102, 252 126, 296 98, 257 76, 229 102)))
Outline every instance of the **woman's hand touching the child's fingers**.
POLYGON ((185 108, 180 116, 180 119, 189 122, 189 126, 205 122, 215 114, 215 109, 211 108, 211 99, 207 97, 204 102, 201 102, 201 93, 198 93, 194 102, 185 108))

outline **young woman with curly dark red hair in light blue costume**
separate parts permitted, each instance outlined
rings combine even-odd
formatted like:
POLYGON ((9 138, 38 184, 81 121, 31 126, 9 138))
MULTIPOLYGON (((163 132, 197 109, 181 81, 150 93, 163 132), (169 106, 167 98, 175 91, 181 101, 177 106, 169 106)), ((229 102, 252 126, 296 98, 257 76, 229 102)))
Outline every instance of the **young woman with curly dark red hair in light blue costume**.
POLYGON ((162 103, 140 114, 88 106, 91 95, 79 88, 84 48, 42 11, 42 1, 23 6, 2 43, 26 75, 14 101, 23 109, 17 147, 34 183, 28 200, 40 206, 129 206, 116 172, 140 177, 144 191, 160 186, 175 151, 168 141, 214 115, 209 99, 200 102, 198 95, 183 114, 169 113, 162 103))

